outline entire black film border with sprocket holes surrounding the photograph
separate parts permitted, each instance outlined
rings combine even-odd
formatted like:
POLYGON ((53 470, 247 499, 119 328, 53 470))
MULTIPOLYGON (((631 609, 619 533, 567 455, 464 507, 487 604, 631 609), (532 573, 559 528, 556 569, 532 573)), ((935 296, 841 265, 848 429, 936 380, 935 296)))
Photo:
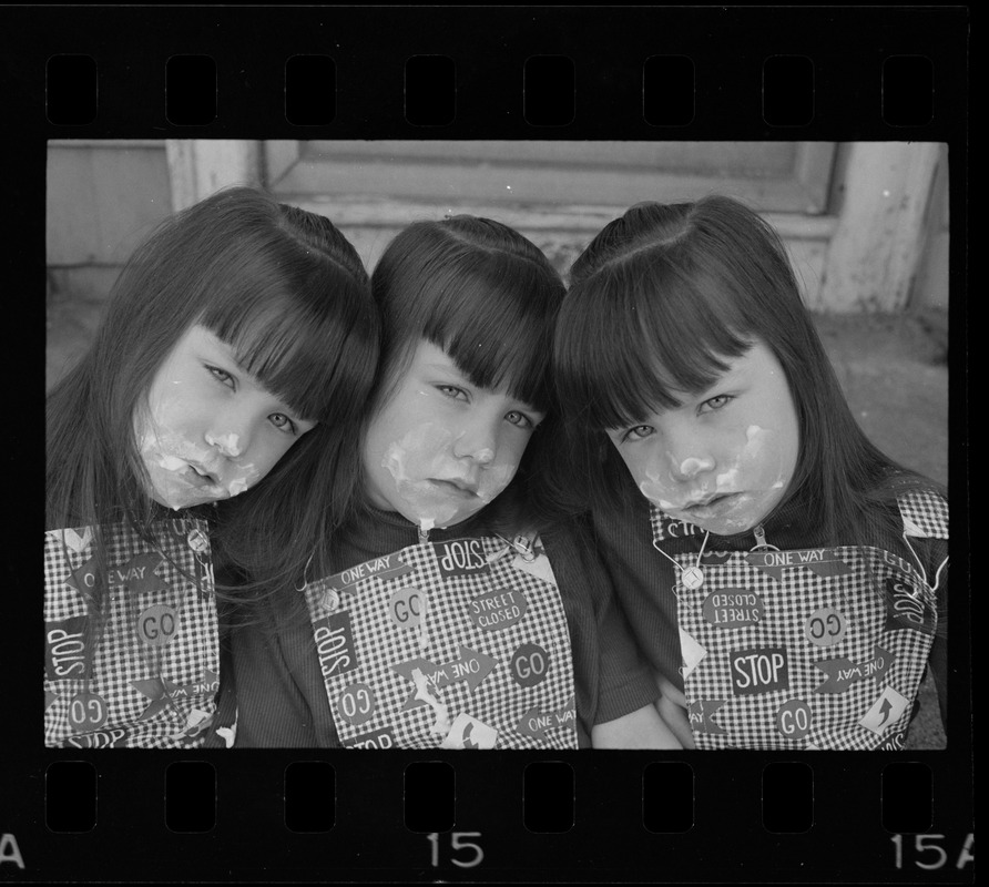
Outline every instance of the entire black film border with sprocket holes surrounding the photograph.
MULTIPOLYGON (((47 139, 935 140, 961 159, 965 196, 966 7, 23 7, 0 21, 3 193, 27 206, 33 239, 13 247, 39 267, 47 139)), ((20 626, 40 608, 14 582, 11 676, 37 660, 20 626)), ((955 641, 950 751, 906 756, 52 752, 33 683, 11 679, 0 878, 969 883, 955 641)))

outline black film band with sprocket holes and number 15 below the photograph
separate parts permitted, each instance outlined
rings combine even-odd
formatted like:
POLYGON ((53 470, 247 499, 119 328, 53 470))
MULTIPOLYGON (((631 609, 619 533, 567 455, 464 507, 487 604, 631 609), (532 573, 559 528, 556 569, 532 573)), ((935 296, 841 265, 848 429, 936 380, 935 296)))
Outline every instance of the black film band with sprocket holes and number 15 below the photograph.
POLYGON ((44 796, 47 828, 17 845, 35 874, 957 883, 973 869, 971 819, 934 758, 124 757, 54 762, 21 798, 44 796))

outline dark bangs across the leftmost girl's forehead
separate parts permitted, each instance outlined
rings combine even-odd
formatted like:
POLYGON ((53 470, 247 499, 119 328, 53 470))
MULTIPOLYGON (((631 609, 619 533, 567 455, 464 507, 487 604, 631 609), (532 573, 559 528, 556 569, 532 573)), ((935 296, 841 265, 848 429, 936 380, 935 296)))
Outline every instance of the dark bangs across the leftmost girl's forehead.
POLYGON ((242 289, 215 300, 202 318, 243 370, 308 421, 359 408, 350 401, 363 401, 375 373, 373 319, 358 315, 361 299, 346 282, 335 284, 327 290, 314 275, 294 294, 242 289))

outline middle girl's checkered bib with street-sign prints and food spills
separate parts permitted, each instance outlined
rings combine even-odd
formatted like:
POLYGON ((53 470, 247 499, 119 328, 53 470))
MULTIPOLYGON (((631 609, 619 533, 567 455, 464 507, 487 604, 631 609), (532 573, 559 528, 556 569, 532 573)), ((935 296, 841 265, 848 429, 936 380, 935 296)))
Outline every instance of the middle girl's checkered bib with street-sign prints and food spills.
POLYGON ((487 570, 445 574, 439 558, 452 543, 427 542, 391 555, 410 568, 401 575, 363 579, 329 602, 328 580, 307 587, 344 746, 577 747, 570 635, 546 553, 531 562, 500 539, 466 541, 493 559, 487 570), (425 620, 405 626, 396 614, 410 602, 425 620), (353 640, 334 656, 327 639, 343 623, 353 640))

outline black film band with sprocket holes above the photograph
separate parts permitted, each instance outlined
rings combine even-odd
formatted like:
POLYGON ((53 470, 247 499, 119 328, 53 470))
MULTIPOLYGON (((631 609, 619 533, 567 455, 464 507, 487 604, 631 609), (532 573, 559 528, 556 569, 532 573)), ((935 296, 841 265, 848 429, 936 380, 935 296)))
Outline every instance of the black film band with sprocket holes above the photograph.
POLYGON ((963 7, 37 12, 6 91, 50 137, 930 139, 968 94, 963 7))

